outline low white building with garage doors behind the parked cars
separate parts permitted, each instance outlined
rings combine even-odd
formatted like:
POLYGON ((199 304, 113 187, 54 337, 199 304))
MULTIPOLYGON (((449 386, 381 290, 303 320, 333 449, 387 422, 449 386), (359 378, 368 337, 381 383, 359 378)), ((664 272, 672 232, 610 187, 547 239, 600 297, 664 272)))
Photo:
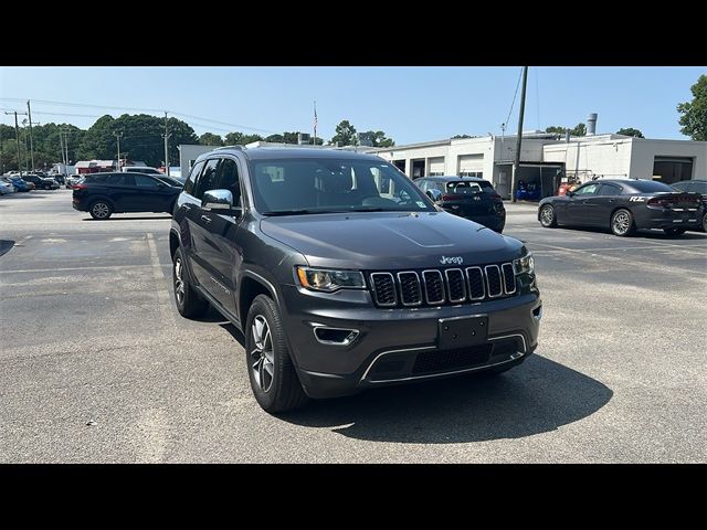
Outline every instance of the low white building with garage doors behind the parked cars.
MULTIPOLYGON (((484 177, 504 198, 510 197, 516 136, 483 136, 366 149, 389 160, 412 179, 435 174, 484 177)), ((363 150, 363 149, 362 149, 363 150)), ((518 182, 556 193, 560 179, 592 178, 707 179, 707 142, 653 140, 595 135, 559 140, 557 135, 524 132, 518 182)))

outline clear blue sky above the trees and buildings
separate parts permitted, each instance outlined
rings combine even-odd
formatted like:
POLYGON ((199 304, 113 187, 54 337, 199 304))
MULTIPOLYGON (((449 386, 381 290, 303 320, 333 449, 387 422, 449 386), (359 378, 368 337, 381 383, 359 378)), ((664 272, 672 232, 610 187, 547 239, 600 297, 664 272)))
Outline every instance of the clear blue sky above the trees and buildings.
MULTIPOLYGON (((233 124, 177 116, 197 134, 242 130, 266 136, 310 131, 316 99, 317 136, 331 138, 336 125, 348 119, 359 131, 384 130, 403 145, 457 134, 499 135, 519 71, 506 66, 0 67, 0 108, 25 110, 22 102, 11 98, 29 98, 34 121, 82 128, 104 114, 133 112, 40 100, 166 109, 233 124)), ((635 127, 648 138, 684 139, 675 107, 692 98, 689 87, 700 74, 707 74, 707 67, 531 66, 524 129, 572 127, 594 112, 598 132, 635 127)), ((519 96, 507 132, 517 128, 518 107, 519 96)), ((13 124, 11 116, 0 117, 3 124, 13 124)))

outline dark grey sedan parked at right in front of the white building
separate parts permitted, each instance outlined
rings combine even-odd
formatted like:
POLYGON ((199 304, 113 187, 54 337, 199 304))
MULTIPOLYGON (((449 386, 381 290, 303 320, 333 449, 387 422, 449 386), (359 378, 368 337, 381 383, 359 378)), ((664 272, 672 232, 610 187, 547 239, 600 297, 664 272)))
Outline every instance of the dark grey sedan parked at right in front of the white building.
POLYGON ((676 192, 663 182, 642 179, 587 182, 567 195, 547 197, 538 205, 538 221, 547 229, 558 224, 609 227, 621 236, 642 229, 680 235, 698 226, 704 213, 698 193, 676 192))

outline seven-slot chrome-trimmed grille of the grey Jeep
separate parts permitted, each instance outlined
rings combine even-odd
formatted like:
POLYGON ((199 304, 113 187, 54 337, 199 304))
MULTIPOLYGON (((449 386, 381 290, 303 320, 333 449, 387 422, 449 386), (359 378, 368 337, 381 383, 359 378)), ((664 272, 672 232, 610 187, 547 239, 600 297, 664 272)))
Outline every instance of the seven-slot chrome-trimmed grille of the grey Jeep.
POLYGON ((379 307, 419 307, 505 298, 516 293, 511 263, 370 274, 379 307))

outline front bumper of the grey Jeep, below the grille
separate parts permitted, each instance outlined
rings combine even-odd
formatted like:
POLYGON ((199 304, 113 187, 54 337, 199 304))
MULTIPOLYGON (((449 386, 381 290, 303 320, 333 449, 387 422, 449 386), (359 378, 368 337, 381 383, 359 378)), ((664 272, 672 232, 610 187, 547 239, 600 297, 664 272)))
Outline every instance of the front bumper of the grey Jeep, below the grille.
POLYGON ((456 306, 379 309, 367 292, 335 295, 283 286, 284 328, 299 379, 312 398, 335 398, 365 388, 398 384, 520 362, 537 347, 539 295, 456 306), (487 340, 439 347, 440 319, 487 316, 487 340), (355 330, 342 344, 323 343, 320 327, 355 330))

